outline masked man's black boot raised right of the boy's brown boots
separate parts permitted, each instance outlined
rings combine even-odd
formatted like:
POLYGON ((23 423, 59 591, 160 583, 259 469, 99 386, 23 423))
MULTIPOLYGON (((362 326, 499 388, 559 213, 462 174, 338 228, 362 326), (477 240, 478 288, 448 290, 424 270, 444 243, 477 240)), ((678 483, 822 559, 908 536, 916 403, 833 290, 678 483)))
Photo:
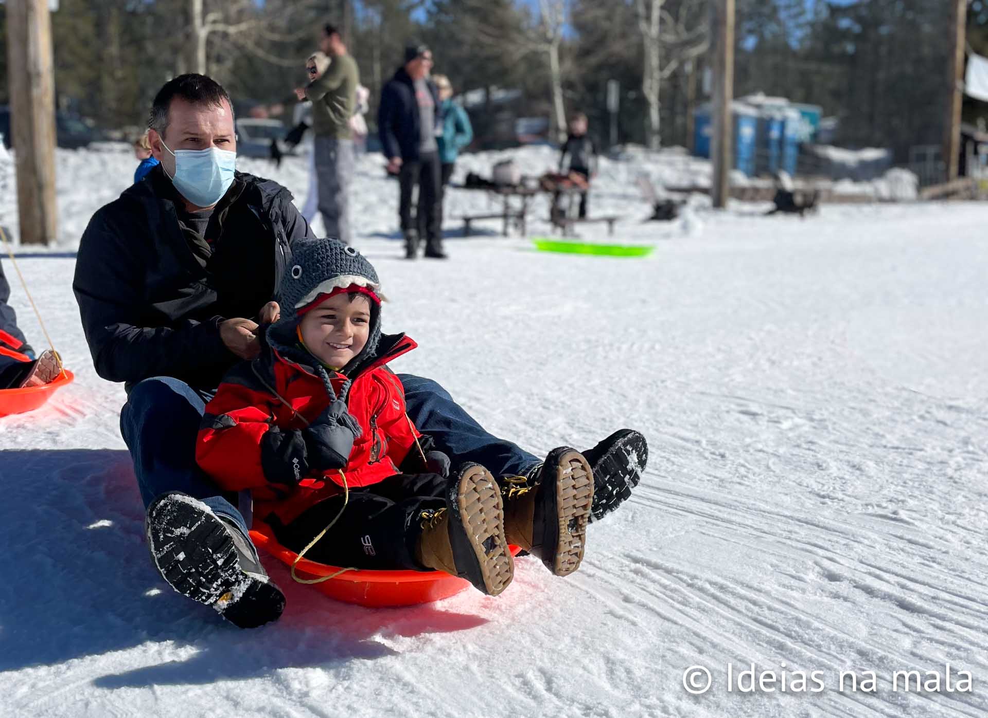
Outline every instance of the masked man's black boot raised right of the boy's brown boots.
POLYGON ((645 437, 632 429, 621 429, 583 452, 594 470, 594 505, 591 521, 600 521, 631 496, 648 462, 645 437))

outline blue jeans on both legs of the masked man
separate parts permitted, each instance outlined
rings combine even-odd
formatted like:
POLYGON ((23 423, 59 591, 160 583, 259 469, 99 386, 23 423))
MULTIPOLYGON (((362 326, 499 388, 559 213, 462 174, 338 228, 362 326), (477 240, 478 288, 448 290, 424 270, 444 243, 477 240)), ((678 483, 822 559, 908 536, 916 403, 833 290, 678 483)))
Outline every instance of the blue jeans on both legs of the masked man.
MULTIPOLYGON (((453 466, 475 462, 504 476, 525 473, 538 463, 515 444, 484 431, 436 382, 410 374, 399 374, 398 379, 405 388, 409 418, 436 440, 453 466)), ((178 379, 145 379, 127 395, 121 433, 145 508, 166 491, 182 491, 233 521, 246 535, 251 522, 248 492, 223 493, 196 464, 196 436, 209 398, 178 379)))

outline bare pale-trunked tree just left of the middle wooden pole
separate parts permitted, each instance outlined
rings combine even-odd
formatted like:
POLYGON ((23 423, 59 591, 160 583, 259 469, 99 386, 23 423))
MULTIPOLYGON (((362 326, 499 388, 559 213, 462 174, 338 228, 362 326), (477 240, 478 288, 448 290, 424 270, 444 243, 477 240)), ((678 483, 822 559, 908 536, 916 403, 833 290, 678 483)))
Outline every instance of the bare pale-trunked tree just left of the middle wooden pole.
POLYGON ((699 57, 709 46, 709 25, 701 12, 702 0, 681 0, 673 8, 671 0, 635 0, 638 30, 644 49, 641 91, 648 104, 645 120, 645 142, 657 150, 662 144, 659 90, 662 81, 672 76, 679 66, 699 57), (673 8, 675 15, 669 8, 673 8), (662 66, 663 47, 668 60, 662 66))

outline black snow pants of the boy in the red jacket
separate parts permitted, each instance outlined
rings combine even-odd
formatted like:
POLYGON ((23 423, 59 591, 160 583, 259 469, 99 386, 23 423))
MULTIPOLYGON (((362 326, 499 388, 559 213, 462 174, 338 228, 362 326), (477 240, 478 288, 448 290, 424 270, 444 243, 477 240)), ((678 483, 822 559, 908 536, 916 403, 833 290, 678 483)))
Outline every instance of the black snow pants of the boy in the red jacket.
MULTIPOLYGON (((431 570, 415 558, 422 534, 420 514, 446 507, 447 482, 437 473, 398 474, 351 489, 343 514, 305 558, 378 571, 431 570)), ((266 521, 282 545, 298 552, 326 528, 341 506, 342 494, 309 507, 288 526, 274 516, 266 521)))

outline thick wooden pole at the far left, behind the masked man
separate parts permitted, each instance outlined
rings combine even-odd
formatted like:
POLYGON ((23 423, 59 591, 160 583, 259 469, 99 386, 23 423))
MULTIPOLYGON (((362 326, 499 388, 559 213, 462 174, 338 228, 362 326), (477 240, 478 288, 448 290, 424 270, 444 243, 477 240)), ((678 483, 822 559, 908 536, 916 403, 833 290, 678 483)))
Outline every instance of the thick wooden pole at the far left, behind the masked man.
POLYGON ((48 0, 7 3, 7 84, 21 243, 57 238, 55 88, 48 0))

